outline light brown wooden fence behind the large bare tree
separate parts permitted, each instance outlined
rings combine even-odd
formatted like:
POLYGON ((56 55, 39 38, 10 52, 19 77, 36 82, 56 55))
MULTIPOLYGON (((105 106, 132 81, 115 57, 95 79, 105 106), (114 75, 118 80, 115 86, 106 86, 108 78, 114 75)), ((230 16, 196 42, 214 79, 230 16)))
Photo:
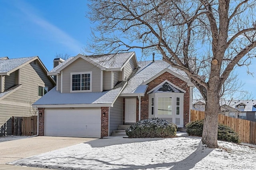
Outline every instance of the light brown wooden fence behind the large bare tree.
MULTIPOLYGON (((191 110, 190 120, 204 119, 204 111, 191 110)), ((218 115, 218 122, 234 129, 240 136, 241 142, 256 144, 256 122, 218 115)))

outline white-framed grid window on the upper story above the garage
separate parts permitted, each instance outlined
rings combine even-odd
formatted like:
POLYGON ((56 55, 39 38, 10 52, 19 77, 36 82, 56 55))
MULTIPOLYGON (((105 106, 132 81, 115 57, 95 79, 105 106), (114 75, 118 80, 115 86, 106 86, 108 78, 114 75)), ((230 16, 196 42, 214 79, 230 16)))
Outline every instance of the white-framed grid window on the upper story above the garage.
POLYGON ((92 72, 71 73, 71 91, 92 91, 92 72))

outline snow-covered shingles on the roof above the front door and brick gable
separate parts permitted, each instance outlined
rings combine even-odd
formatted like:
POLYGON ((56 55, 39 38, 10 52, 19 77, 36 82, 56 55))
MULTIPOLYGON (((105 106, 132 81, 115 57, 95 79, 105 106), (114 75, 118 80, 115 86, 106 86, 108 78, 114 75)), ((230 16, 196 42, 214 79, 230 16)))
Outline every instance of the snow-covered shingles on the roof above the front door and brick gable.
POLYGON ((153 63, 152 61, 140 61, 138 65, 140 68, 136 74, 130 80, 128 80, 128 83, 122 91, 122 94, 134 93, 139 85, 154 77, 156 74, 160 73, 166 68, 177 73, 178 75, 187 77, 184 71, 176 69, 162 60, 155 60, 153 63))

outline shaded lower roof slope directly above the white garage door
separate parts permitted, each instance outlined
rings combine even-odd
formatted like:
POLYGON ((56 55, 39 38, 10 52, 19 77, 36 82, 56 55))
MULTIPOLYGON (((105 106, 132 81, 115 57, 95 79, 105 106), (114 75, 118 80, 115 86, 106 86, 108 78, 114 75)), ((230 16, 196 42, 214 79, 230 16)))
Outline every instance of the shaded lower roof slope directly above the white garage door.
POLYGON ((116 89, 109 91, 88 93, 60 93, 54 87, 33 105, 112 104, 125 85, 120 84, 116 89))

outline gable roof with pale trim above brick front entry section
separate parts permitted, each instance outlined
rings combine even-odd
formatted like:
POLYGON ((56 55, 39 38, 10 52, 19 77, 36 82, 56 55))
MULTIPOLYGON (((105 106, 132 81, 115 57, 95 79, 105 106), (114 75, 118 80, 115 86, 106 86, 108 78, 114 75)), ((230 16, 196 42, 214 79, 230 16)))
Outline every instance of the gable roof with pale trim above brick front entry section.
POLYGON ((186 81, 189 86, 194 86, 188 79, 186 73, 179 69, 172 67, 166 61, 162 60, 155 60, 152 61, 140 61, 139 69, 135 73, 133 77, 128 80, 128 83, 124 90, 122 91, 121 95, 137 95, 134 92, 140 85, 146 85, 150 81, 154 80, 159 75, 163 74, 164 72, 169 72, 172 75, 186 81))

